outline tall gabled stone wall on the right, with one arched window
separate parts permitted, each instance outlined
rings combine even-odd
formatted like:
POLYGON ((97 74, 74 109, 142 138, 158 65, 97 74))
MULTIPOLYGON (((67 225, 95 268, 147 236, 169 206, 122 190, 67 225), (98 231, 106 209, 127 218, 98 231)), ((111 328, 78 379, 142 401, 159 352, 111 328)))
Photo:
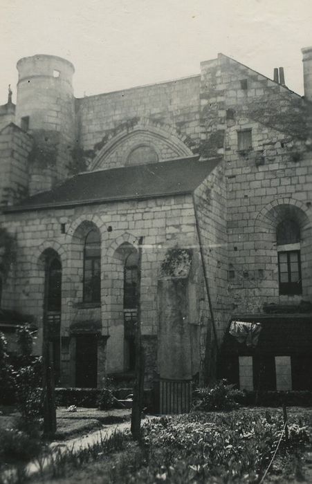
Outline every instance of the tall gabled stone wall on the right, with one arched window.
POLYGON ((203 151, 211 147, 217 131, 223 149, 215 149, 223 151, 226 160, 232 312, 256 313, 272 302, 311 300, 308 108, 295 93, 226 56, 201 66, 203 151), (242 89, 243 80, 247 89, 242 89), (239 151, 237 131, 244 129, 251 129, 252 147, 239 151), (303 292, 281 296, 275 231, 290 214, 301 228, 303 292))

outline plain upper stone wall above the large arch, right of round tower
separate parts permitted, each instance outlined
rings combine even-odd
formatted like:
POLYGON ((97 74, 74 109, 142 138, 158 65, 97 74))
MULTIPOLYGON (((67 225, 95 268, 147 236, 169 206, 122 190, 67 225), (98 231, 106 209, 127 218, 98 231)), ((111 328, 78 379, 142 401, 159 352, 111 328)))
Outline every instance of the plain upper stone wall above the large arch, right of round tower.
MULTIPOLYGON (((91 158, 109 139, 138 124, 168 134, 174 130, 194 151, 199 140, 199 76, 77 99, 76 113, 80 146, 91 158)), ((137 142, 146 141, 145 136, 137 142)), ((161 151, 162 157, 176 156, 161 151)))

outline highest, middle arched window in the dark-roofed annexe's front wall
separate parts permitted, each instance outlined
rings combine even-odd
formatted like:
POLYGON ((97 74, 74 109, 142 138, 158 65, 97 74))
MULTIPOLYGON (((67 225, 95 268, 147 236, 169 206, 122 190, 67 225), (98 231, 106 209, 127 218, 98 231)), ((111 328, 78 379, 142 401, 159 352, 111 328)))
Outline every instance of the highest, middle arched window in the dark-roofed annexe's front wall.
POLYGON ((98 230, 91 229, 84 239, 84 302, 101 300, 101 245, 98 230))

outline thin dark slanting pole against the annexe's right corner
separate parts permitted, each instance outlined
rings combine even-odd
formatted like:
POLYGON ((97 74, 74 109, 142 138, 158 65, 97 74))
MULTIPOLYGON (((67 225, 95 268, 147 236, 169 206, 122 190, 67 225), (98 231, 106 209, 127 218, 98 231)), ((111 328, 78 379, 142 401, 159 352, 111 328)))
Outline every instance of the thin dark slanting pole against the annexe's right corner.
MULTIPOLYGON (((208 275, 207 275, 207 270, 206 270, 206 265, 205 265, 205 256, 203 253, 203 241, 201 237, 201 230, 199 227, 199 216, 197 212, 197 207, 196 207, 196 202, 195 202, 195 196, 193 194, 193 205, 194 205, 194 215, 195 215, 195 224, 196 224, 196 232, 197 232, 197 238, 199 239, 199 252, 201 254, 201 266, 203 268, 203 279, 205 281, 205 290, 206 290, 206 295, 208 299, 208 306, 210 310, 210 317, 212 321, 212 331, 214 334, 214 348, 217 351, 217 355, 215 355, 214 360, 217 358, 218 353, 219 353, 219 345, 218 345, 218 338, 217 338, 217 328, 216 328, 216 322, 214 319, 214 310, 212 307, 212 300, 210 297, 210 290, 209 290, 209 283, 208 283, 208 275)), ((210 347, 212 345, 210 344, 210 332, 208 331, 207 328, 207 334, 206 334, 206 340, 205 340, 205 357, 204 357, 204 375, 203 375, 203 380, 205 384, 211 383, 215 378, 216 378, 216 371, 215 368, 211 369, 211 361, 212 357, 210 355, 210 347)))

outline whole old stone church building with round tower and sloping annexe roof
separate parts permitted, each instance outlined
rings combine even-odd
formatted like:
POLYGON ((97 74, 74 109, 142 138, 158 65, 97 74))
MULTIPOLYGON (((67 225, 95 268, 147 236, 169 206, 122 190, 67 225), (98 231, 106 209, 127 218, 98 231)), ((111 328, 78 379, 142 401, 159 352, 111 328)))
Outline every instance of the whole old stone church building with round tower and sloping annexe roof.
POLYGON ((302 53, 304 97, 282 68, 270 80, 223 54, 82 98, 71 62, 17 62, 17 104, 9 89, 0 106, 0 330, 13 342, 31 322, 39 354, 47 325, 59 386, 133 374, 142 240, 147 387, 202 378, 205 360, 242 389, 312 389, 302 53))

